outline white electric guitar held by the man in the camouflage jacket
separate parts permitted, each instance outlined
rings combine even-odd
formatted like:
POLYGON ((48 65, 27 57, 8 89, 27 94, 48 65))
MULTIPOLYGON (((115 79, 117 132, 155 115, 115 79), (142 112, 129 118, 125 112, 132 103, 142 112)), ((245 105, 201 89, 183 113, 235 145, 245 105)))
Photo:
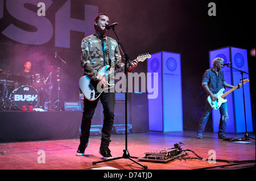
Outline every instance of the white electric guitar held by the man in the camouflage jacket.
MULTIPOLYGON (((137 60, 138 62, 143 62, 147 58, 151 58, 151 55, 148 53, 138 56, 135 60, 137 60)), ((127 67, 129 67, 129 66, 130 65, 128 64, 127 67)), ((98 71, 98 73, 100 75, 105 77, 107 85, 108 85, 103 88, 100 85, 98 85, 98 82, 92 80, 89 76, 87 76, 87 75, 82 76, 79 79, 79 87, 80 87, 82 94, 84 94, 85 99, 96 100, 104 90, 112 89, 114 87, 114 79, 113 79, 114 75, 122 72, 124 69, 125 69, 125 67, 123 66, 122 68, 119 68, 119 69, 111 72, 110 66, 106 65, 100 71, 98 71)))

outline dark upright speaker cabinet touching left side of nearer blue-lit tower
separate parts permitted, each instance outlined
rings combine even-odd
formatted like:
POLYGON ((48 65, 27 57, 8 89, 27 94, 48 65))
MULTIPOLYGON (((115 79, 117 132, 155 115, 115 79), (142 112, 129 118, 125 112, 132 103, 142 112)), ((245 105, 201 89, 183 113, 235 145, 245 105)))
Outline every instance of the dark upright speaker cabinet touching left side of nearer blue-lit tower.
POLYGON ((135 92, 131 94, 132 132, 148 132, 148 101, 147 94, 135 92))

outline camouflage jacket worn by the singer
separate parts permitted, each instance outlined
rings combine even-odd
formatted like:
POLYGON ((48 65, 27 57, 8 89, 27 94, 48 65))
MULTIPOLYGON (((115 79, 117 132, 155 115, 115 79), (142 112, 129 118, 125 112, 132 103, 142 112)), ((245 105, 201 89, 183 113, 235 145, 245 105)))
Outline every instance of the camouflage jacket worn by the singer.
POLYGON ((100 78, 98 71, 105 65, 109 65, 109 60, 111 60, 111 66, 115 68, 123 66, 117 41, 106 36, 102 39, 95 33, 82 40, 80 64, 85 75, 98 81, 100 78))

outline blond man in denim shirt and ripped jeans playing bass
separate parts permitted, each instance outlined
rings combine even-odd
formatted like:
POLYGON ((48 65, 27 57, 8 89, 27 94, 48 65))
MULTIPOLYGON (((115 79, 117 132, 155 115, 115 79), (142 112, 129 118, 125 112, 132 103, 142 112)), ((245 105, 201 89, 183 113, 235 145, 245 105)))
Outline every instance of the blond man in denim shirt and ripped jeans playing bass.
MULTIPOLYGON (((204 87, 204 90, 207 92, 207 96, 210 95, 210 98, 212 100, 217 99, 217 92, 222 89, 222 87, 228 87, 233 88, 234 86, 229 85, 225 82, 224 74, 221 71, 224 60, 222 58, 214 58, 212 64, 213 67, 211 69, 208 69, 205 71, 203 75, 203 81, 202 86, 204 87)), ((201 116, 201 119, 199 121, 199 127, 197 129, 197 138, 202 139, 203 138, 203 132, 205 129, 205 125, 207 124, 207 121, 210 116, 210 112, 212 112, 212 107, 210 107, 208 101, 205 102, 205 110, 203 115, 201 116)), ((228 106, 227 103, 222 103, 220 107, 220 125, 219 125, 219 131, 218 131, 218 138, 219 139, 225 139, 226 138, 226 120, 228 119, 228 106)))

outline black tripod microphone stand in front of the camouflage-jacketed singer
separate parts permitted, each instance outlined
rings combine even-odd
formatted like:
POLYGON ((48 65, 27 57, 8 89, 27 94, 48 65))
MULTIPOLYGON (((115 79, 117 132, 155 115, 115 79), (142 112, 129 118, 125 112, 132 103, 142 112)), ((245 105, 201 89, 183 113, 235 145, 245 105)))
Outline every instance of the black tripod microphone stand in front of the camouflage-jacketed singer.
MULTIPOLYGON (((111 27, 112 30, 114 31, 115 33, 115 30, 114 30, 114 25, 111 27)), ((115 33, 115 36, 117 36, 117 33, 115 33)), ((119 45, 119 48, 121 49, 121 51, 123 52, 123 54, 125 55, 125 75, 126 75, 126 92, 125 92, 125 150, 123 150, 123 156, 122 157, 117 157, 117 158, 110 158, 110 159, 107 159, 107 160, 104 160, 104 161, 98 161, 98 162, 93 162, 93 165, 95 165, 96 163, 101 163, 101 162, 108 162, 108 161, 113 161, 115 159, 121 159, 121 158, 124 158, 124 159, 130 159, 131 161, 137 163, 138 165, 142 166, 144 169, 147 169, 147 166, 146 165, 142 165, 141 163, 135 161, 134 159, 131 159, 131 158, 138 158, 138 157, 131 157, 130 154, 129 154, 129 151, 127 149, 127 90, 128 90, 128 83, 127 83, 127 62, 129 62, 129 65, 131 64, 130 62, 130 58, 128 56, 128 54, 125 52, 125 49, 123 48, 123 45, 121 43, 121 41, 119 40, 118 36, 117 36, 117 40, 118 40, 118 45, 119 45)))

